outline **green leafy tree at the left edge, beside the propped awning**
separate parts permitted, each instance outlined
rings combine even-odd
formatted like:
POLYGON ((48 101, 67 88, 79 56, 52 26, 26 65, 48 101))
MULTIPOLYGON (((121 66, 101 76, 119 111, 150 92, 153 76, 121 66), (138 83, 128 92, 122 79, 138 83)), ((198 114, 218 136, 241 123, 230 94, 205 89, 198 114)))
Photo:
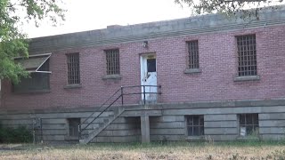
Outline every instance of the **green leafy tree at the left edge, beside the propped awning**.
POLYGON ((15 57, 28 58, 28 36, 21 31, 23 22, 40 26, 42 20, 56 25, 64 20, 61 0, 0 0, 0 80, 20 82, 21 76, 28 76, 15 57))

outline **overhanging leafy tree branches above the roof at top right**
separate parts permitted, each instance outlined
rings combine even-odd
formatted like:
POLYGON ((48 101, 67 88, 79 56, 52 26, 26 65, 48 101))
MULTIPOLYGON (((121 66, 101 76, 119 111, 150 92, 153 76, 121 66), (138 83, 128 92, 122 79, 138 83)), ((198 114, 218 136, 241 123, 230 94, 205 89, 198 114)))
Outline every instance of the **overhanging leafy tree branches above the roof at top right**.
POLYGON ((175 0, 176 4, 186 4, 193 13, 223 13, 229 17, 244 20, 259 20, 259 12, 265 9, 279 9, 283 0, 175 0))

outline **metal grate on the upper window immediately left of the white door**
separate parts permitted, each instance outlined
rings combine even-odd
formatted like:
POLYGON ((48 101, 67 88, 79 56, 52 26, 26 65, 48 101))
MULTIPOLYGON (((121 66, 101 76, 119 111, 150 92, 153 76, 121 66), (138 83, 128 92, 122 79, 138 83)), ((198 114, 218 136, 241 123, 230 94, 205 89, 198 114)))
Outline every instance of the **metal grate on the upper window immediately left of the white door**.
POLYGON ((106 50, 107 75, 119 75, 119 52, 118 49, 106 50))

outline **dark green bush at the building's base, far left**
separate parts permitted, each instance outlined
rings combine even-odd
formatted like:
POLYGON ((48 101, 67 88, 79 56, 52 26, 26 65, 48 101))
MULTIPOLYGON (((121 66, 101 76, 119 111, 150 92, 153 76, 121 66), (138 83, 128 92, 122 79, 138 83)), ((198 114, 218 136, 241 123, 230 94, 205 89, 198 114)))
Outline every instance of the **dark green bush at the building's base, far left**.
POLYGON ((0 126, 0 143, 28 143, 32 140, 33 135, 25 126, 17 128, 0 126))

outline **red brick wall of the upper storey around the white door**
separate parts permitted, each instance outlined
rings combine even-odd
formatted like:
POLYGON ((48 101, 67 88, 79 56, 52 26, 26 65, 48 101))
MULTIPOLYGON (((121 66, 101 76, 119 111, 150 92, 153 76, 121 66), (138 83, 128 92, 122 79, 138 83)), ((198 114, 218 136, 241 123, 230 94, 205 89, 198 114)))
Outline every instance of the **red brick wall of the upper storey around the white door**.
MULTIPOLYGON (((111 44, 53 52, 50 59, 49 93, 14 94, 3 84, 2 108, 51 108, 96 106, 121 85, 141 83, 140 54, 156 52, 161 102, 208 100, 263 100, 285 98, 285 26, 227 31, 199 36, 177 36, 142 42, 111 44), (233 82, 237 76, 235 37, 256 34, 257 73, 259 81, 233 82), (189 75, 185 41, 199 40, 201 73, 189 75), (119 48, 121 80, 102 80, 106 74, 103 50, 119 48), (67 84, 65 53, 80 53, 82 88, 64 89, 67 84)), ((139 90, 137 90, 139 91, 139 90)), ((139 99, 140 97, 137 96, 139 99)), ((134 103, 134 100, 126 100, 134 103)), ((136 100, 137 101, 137 100, 136 100)))

